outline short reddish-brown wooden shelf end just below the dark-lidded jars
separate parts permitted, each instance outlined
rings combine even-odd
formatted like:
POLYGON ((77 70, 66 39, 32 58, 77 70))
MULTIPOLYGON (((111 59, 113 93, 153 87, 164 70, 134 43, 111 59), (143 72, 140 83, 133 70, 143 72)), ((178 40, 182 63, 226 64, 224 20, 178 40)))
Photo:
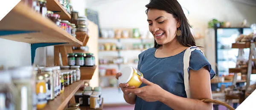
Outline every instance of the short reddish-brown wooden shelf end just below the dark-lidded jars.
POLYGON ((80 67, 81 71, 81 80, 91 80, 94 74, 94 71, 97 66, 93 67, 80 67))

